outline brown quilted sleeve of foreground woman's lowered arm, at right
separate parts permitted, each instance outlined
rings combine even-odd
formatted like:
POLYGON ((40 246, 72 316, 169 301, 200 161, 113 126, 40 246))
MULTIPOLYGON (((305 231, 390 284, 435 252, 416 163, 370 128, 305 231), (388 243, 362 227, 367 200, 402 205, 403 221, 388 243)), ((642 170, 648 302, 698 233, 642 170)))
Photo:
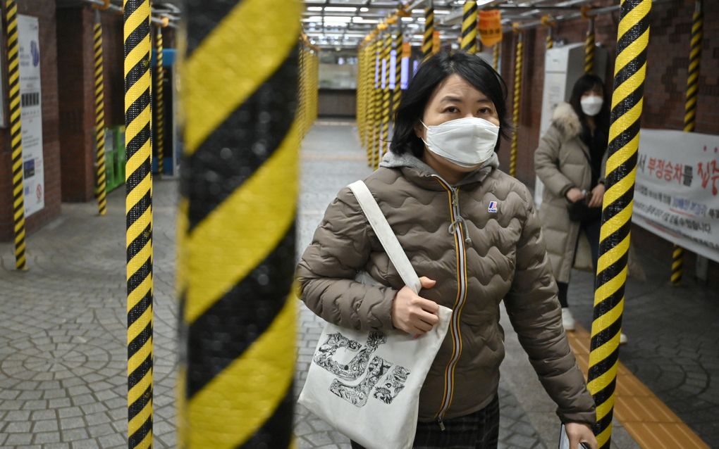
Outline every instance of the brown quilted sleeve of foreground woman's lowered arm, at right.
POLYGON ((516 249, 515 277, 505 296, 507 313, 541 384, 557 403, 562 422, 593 425, 594 400, 567 343, 539 217, 524 190, 527 216, 516 249))

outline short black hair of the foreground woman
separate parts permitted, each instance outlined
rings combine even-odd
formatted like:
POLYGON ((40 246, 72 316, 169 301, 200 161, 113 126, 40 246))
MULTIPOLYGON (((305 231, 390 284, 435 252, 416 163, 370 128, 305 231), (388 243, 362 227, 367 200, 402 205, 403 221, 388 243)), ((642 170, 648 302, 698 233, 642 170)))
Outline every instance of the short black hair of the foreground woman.
MULTIPOLYGON (((439 83, 449 75, 457 75, 475 86, 489 98, 497 110, 500 134, 506 137, 510 124, 507 113, 507 86, 504 80, 478 55, 443 50, 422 63, 407 90, 403 93, 395 115, 394 134, 390 150, 395 154, 412 152, 416 157, 424 154, 424 142, 415 134, 415 126, 422 119, 429 97, 439 83)), ((495 151, 499 149, 499 140, 495 151)))

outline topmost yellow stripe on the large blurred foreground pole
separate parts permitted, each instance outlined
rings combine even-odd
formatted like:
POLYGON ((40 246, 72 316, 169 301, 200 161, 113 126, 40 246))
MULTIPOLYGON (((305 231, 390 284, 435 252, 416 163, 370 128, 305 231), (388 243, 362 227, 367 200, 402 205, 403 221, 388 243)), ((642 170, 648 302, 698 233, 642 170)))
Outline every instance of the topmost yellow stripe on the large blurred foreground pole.
POLYGON ((302 8, 300 1, 244 0, 188 58, 185 79, 202 82, 193 83, 185 93, 186 120, 191 124, 186 128, 186 154, 195 152, 206 136, 285 61, 296 45, 302 8), (272 20, 266 19, 268 11, 272 11, 272 20), (232 58, 236 64, 216 63, 232 58))

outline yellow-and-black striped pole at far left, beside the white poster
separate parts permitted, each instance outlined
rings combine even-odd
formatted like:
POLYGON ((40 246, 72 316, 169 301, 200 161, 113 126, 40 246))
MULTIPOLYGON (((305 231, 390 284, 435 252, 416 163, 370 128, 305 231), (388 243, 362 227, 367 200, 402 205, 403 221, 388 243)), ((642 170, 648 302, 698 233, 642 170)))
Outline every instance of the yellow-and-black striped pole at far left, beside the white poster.
POLYGON ((22 185, 22 118, 20 116, 20 72, 17 45, 17 4, 5 0, 7 27, 7 80, 10 139, 12 144, 12 213, 15 231, 15 268, 27 269, 25 257, 25 198, 22 185))

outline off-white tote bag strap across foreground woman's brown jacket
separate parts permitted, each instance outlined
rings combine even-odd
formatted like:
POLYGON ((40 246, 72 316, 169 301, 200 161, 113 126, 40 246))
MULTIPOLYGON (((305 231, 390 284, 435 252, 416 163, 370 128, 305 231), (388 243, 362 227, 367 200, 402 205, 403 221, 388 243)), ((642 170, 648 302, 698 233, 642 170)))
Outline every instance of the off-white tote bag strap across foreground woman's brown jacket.
POLYGON ((370 193, 370 189, 367 188, 367 185, 362 180, 352 182, 348 187, 349 190, 352 190, 352 193, 354 193, 357 201, 359 201, 359 207, 362 208, 365 216, 367 216, 367 221, 370 222, 372 229, 375 230, 377 239, 380 239, 380 243, 387 252, 387 255, 390 256, 390 261, 392 261, 395 269, 399 272, 405 285, 410 287, 413 292, 419 293, 421 289, 419 278, 409 259, 407 259, 407 255, 402 249, 402 246, 400 246, 397 236, 395 236, 392 228, 390 228, 390 223, 387 223, 385 214, 382 213, 380 206, 377 205, 377 201, 375 201, 375 197, 370 193))

